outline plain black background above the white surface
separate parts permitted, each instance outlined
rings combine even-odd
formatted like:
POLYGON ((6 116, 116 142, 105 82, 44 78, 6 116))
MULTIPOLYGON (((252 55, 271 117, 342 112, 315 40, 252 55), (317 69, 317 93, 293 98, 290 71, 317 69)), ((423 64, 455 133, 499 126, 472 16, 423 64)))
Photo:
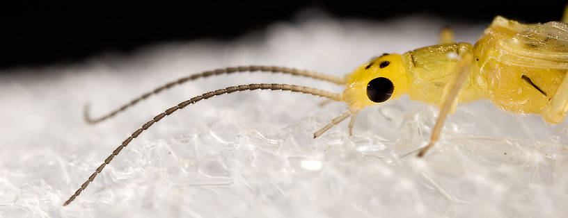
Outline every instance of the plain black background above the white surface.
POLYGON ((228 39, 278 21, 294 22, 306 8, 332 17, 388 19, 416 13, 461 22, 503 15, 521 22, 558 20, 565 1, 188 1, 163 3, 23 3, 0 6, 0 72, 20 66, 78 62, 107 51, 196 38, 228 39))

